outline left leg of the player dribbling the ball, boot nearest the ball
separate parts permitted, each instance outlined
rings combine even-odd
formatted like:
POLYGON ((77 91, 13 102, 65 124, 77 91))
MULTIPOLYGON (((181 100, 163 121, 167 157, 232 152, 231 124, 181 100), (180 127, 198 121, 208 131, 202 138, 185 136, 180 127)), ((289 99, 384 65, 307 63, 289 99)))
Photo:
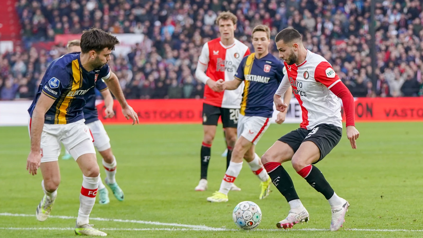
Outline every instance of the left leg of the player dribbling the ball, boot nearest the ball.
POLYGON ((291 160, 307 133, 308 130, 302 128, 291 131, 277 140, 261 157, 261 162, 272 183, 285 197, 290 206, 288 216, 276 224, 278 228, 286 229, 310 219, 308 211, 302 205, 297 191, 295 191, 291 177, 281 165, 281 163, 291 160))

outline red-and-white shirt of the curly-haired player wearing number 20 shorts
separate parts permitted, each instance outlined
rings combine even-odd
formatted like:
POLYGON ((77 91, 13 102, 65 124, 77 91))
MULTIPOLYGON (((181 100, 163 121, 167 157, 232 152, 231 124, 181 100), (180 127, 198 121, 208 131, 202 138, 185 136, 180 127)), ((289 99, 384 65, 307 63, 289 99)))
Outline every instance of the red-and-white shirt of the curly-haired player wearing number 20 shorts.
MULTIPOLYGON (((217 38, 204 44, 198 61, 207 66, 206 75, 212 80, 231 81, 242 58, 249 54, 250 49, 239 40, 235 39, 233 44, 226 46, 217 38)), ((223 92, 215 92, 206 85, 204 103, 221 108, 241 108, 243 91, 244 82, 238 89, 223 92)))

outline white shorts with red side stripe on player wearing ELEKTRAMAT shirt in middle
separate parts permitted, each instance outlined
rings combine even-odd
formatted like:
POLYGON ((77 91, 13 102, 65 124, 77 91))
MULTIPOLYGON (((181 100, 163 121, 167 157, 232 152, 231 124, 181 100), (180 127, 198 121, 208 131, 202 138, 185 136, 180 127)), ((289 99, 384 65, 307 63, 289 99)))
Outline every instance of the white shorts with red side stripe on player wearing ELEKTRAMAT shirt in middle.
POLYGON ((253 144, 257 144, 264 132, 269 128, 269 118, 261 116, 239 115, 237 134, 246 138, 253 144))

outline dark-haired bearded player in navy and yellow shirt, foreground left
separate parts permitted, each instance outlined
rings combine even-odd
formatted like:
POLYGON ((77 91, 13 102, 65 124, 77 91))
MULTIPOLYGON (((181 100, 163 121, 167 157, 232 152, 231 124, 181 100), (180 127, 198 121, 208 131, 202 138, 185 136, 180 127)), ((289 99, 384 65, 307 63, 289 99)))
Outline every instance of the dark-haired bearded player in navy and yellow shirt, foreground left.
POLYGON ((60 183, 58 157, 63 143, 78 163, 82 174, 80 208, 75 226, 77 235, 105 236, 89 224, 89 215, 96 201, 100 169, 93 138, 85 125, 82 106, 85 94, 95 87, 97 78, 106 80, 116 95, 122 113, 133 124, 137 114, 127 104, 118 78, 107 62, 119 41, 97 28, 85 30, 81 36, 81 53, 70 53, 53 61, 47 68, 32 105, 28 109, 31 150, 27 170, 35 175, 41 168, 44 197, 36 208, 38 221, 45 221, 57 196, 60 183))

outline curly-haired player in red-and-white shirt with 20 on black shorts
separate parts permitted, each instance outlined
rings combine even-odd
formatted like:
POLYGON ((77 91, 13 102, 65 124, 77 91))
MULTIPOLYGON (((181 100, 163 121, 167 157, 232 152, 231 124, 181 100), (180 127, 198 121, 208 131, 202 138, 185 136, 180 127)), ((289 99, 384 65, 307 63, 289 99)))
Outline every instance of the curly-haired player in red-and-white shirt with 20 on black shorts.
MULTIPOLYGON (((195 191, 207 190, 207 169, 209 167, 211 144, 216 134, 219 117, 225 128, 228 152, 226 156, 226 169, 231 161, 231 153, 236 141, 236 126, 238 123, 239 108, 242 97, 243 84, 238 89, 219 92, 216 81, 233 80, 236 69, 245 55, 250 54, 250 49, 234 37, 237 17, 228 11, 223 11, 216 18, 220 38, 204 44, 198 58, 195 77, 205 83, 203 103, 203 129, 204 137, 201 146, 201 179, 195 191), (207 69, 207 71, 206 71, 207 69), (204 73, 206 71, 206 73, 204 73)), ((232 190, 241 190, 232 184, 232 190)))

